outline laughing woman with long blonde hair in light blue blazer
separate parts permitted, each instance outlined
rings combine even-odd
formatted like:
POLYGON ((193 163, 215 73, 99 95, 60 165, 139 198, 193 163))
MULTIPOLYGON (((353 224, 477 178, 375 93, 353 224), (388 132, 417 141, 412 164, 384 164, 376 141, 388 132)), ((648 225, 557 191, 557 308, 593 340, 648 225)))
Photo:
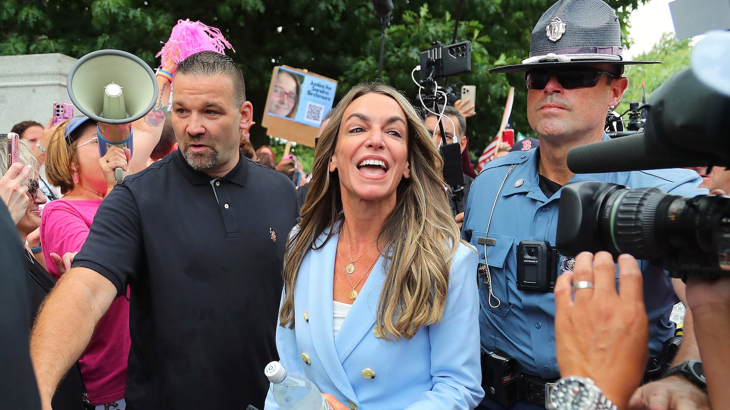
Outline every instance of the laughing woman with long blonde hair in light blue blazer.
POLYGON ((382 83, 351 89, 320 136, 286 248, 277 349, 336 410, 474 409, 483 397, 477 254, 441 169, 423 120, 382 83))

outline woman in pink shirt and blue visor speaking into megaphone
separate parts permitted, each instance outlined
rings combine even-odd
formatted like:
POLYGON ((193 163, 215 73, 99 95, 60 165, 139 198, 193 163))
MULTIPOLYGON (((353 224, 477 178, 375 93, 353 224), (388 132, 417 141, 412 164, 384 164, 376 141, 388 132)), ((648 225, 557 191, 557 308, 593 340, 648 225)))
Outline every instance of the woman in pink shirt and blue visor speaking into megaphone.
MULTIPOLYGON (((55 279, 61 276, 50 253, 78 252, 101 201, 116 184, 115 168, 127 171, 129 150, 111 146, 101 157, 96 122, 74 117, 61 124, 47 148, 46 175, 61 187, 64 197, 43 211, 41 243, 55 279)), ((88 398, 97 409, 104 405, 123 410, 129 339, 129 301, 117 298, 101 317, 84 354, 80 357, 88 398)))

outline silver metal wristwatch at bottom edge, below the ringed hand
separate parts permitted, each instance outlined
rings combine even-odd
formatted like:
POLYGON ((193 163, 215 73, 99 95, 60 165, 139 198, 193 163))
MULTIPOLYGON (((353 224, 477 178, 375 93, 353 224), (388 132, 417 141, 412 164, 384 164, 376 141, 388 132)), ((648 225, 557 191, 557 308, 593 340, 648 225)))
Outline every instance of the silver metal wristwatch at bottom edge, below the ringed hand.
POLYGON ((546 399, 550 410, 618 410, 593 380, 579 376, 558 380, 546 399))

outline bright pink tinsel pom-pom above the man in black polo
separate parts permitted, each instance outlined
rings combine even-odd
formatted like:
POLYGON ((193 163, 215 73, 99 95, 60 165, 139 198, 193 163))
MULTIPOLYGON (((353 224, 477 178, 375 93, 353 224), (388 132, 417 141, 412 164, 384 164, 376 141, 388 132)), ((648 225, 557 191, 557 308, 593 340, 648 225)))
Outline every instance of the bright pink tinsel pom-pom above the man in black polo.
POLYGON ((170 38, 167 42, 161 43, 164 44, 162 50, 155 54, 155 57, 161 57, 160 68, 171 62, 177 66, 178 62, 200 51, 226 54, 226 48, 230 48, 234 53, 236 52, 218 28, 190 19, 177 20, 177 24, 170 33, 170 38))

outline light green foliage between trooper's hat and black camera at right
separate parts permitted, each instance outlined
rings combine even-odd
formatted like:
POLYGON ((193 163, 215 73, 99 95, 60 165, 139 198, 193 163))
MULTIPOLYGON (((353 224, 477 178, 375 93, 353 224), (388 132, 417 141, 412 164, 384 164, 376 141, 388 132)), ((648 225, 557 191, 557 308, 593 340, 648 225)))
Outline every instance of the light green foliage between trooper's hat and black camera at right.
POLYGON ((637 55, 635 60, 663 61, 661 64, 646 64, 626 67, 629 88, 623 93, 617 112, 629 109, 629 103, 642 101, 642 83, 646 88, 646 96, 681 69, 689 66, 692 53, 691 39, 677 40, 675 34, 664 33, 661 39, 646 53, 637 55))

